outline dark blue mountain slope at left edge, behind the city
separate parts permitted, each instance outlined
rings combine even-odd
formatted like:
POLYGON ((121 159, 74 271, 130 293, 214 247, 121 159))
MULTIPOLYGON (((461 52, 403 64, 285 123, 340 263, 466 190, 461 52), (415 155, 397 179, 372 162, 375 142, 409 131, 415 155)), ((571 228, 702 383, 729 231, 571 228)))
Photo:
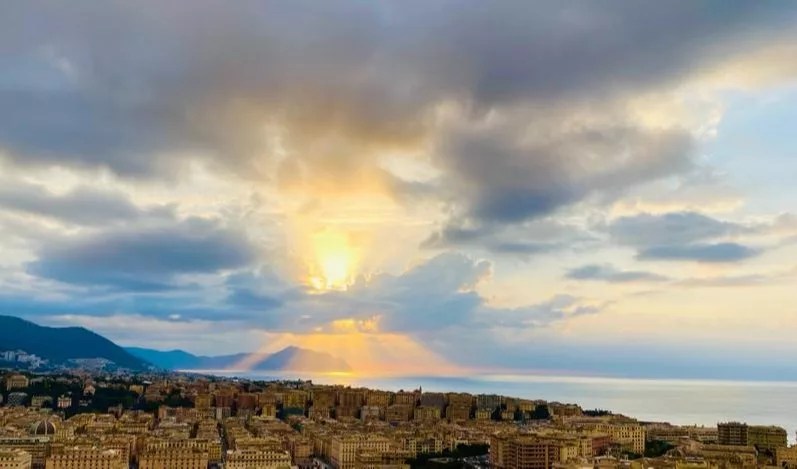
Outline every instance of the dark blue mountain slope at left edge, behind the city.
POLYGON ((133 370, 150 367, 146 360, 83 327, 45 327, 14 316, 0 316, 0 350, 24 350, 52 364, 104 358, 133 370))

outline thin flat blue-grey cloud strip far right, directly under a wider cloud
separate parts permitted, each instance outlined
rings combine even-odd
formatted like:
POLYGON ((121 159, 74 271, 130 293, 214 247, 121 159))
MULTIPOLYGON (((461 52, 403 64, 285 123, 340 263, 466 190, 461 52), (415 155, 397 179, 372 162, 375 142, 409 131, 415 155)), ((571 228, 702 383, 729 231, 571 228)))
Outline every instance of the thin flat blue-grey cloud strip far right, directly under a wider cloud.
POLYGON ((760 249, 754 249, 738 243, 701 243, 644 248, 637 253, 637 259, 725 263, 747 260, 758 256, 761 252, 760 249))

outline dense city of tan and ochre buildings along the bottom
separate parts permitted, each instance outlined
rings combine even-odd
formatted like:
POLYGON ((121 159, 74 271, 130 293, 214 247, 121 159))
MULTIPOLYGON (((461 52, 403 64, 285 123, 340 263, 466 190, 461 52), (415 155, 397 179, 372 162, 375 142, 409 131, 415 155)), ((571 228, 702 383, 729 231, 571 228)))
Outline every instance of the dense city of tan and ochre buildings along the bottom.
POLYGON ((787 431, 573 403, 81 370, 3 376, 2 469, 794 467, 787 431))

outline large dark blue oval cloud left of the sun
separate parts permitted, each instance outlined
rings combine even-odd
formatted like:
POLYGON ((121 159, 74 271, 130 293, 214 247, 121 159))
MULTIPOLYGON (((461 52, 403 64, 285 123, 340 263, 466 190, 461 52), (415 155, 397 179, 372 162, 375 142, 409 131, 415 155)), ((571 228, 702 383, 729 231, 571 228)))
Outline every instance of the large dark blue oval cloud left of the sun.
POLYGON ((188 219, 53 239, 40 248, 27 270, 69 284, 153 290, 168 288, 181 274, 245 267, 256 256, 242 234, 215 222, 188 219))

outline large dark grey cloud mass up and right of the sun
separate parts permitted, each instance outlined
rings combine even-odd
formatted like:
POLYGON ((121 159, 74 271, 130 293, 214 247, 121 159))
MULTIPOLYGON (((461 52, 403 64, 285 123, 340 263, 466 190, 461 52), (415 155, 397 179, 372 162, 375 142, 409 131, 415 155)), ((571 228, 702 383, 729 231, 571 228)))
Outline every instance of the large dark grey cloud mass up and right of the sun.
POLYGON ((530 142, 527 129, 510 125, 461 132, 449 143, 440 154, 458 176, 457 194, 470 201, 465 215, 495 223, 686 171, 693 151, 685 132, 628 127, 555 129, 530 142))

